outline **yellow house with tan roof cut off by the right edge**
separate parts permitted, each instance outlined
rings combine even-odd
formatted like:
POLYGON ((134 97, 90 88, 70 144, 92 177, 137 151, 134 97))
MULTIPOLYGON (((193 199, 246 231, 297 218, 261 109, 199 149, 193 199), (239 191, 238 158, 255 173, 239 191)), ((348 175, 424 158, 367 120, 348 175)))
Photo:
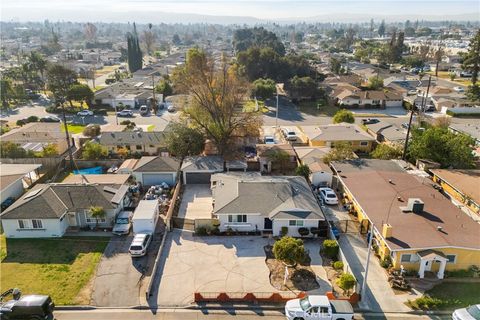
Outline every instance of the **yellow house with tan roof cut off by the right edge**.
POLYGON ((433 181, 450 196, 480 215, 480 170, 431 169, 433 181))

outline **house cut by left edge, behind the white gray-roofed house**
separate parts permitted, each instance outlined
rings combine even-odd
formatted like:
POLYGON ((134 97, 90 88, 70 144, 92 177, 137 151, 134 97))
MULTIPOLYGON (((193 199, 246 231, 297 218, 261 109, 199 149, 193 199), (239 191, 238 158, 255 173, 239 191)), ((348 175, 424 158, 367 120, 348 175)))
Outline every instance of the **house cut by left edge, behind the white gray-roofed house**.
POLYGON ((26 187, 38 180, 41 164, 0 163, 0 203, 8 198, 18 199, 26 187))

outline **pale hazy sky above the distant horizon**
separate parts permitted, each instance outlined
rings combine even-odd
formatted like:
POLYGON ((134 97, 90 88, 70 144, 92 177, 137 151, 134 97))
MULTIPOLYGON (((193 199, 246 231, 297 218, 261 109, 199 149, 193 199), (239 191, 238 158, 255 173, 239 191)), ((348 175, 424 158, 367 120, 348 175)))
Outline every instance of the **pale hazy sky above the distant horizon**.
MULTIPOLYGON (((410 16, 468 15, 480 20, 479 0, 0 0, 2 21, 129 21, 159 20, 165 13, 245 16, 265 20, 334 20, 342 15, 360 20, 410 16), (333 18, 332 18, 333 17, 333 18)), ((179 21, 181 22, 181 21, 179 21)))

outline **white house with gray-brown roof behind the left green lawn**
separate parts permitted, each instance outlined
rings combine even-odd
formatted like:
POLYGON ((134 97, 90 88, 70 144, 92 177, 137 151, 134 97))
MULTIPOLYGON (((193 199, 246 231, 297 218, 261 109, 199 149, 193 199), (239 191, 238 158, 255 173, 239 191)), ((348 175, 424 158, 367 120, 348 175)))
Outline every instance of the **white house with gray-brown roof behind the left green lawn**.
POLYGON ((7 238, 61 237, 68 228, 113 226, 115 216, 130 204, 127 185, 38 184, 1 215, 7 238), (92 206, 103 218, 93 218, 92 206))

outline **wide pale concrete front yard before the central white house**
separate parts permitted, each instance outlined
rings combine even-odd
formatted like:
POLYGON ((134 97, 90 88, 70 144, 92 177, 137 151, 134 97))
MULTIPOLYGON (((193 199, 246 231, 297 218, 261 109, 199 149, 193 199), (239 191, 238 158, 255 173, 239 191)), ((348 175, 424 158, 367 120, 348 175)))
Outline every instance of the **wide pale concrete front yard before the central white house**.
POLYGON ((186 306, 194 292, 276 292, 262 237, 194 237, 174 230, 162 252, 151 307, 186 306), (159 283, 158 283, 159 282, 159 283))

